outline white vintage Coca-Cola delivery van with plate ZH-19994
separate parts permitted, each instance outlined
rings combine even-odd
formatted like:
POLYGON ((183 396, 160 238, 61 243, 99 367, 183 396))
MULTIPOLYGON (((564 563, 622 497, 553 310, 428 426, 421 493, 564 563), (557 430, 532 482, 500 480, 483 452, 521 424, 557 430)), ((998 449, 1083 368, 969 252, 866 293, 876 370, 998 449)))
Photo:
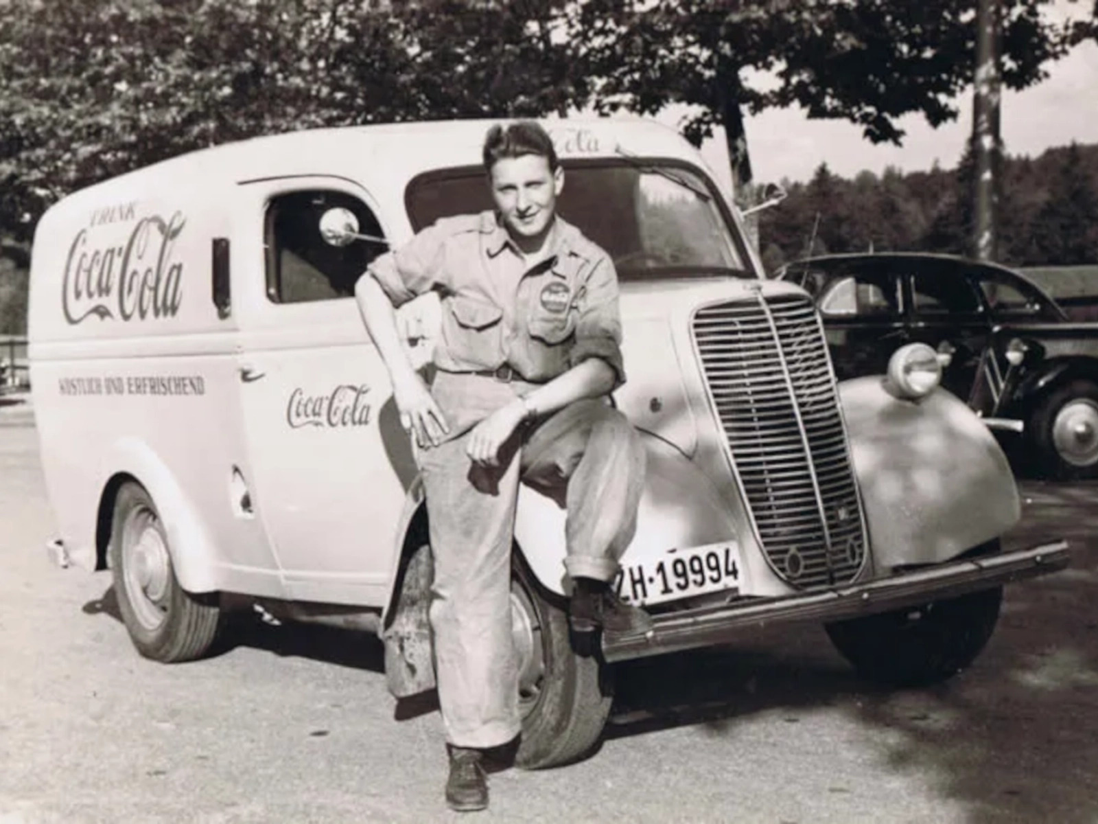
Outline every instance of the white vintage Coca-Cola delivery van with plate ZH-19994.
MULTIPOLYGON (((65 198, 37 226, 30 338, 56 554, 110 567, 137 649, 205 653, 226 603, 378 632, 397 694, 433 683, 430 552, 415 456, 352 288, 389 244, 490 208, 484 122, 309 131, 197 152, 65 198), (234 598, 226 598, 227 594, 234 598)), ((604 667, 817 620, 863 673, 967 666, 1001 587, 1062 568, 1002 553, 1019 517, 999 447, 928 347, 837 382, 811 299, 761 279, 698 154, 645 121, 547 121, 562 214, 621 281, 648 449, 618 591, 654 630, 570 647, 563 512, 516 515, 519 761, 597 739, 604 667), (943 631, 948 627, 948 632, 943 631), (882 655, 887 650, 887 655, 882 655)), ((401 308, 429 371, 439 307, 401 308)))

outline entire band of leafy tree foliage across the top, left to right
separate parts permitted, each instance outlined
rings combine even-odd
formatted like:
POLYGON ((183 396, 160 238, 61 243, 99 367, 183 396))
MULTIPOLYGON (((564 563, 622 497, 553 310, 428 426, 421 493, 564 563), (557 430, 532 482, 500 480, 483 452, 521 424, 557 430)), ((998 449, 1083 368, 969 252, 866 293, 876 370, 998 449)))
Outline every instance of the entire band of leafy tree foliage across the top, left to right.
MULTIPOLYGON (((1052 1, 1001 0, 1008 87, 1094 36, 1052 1)), ((899 142, 955 116, 974 49, 971 0, 0 0, 0 243, 107 177, 315 126, 682 103, 746 180, 743 112, 899 142)))

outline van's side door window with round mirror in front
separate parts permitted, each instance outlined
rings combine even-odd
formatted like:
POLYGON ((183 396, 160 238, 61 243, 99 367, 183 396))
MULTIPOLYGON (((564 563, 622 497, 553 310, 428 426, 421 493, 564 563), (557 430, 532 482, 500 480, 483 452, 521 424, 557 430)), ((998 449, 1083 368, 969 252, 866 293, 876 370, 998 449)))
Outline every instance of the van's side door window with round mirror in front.
POLYGON ((361 200, 340 191, 309 189, 272 198, 267 205, 267 297, 276 303, 332 300, 354 294, 355 282, 385 246, 355 241, 333 246, 321 236, 321 215, 343 207, 358 218, 359 233, 381 236, 378 219, 361 200))

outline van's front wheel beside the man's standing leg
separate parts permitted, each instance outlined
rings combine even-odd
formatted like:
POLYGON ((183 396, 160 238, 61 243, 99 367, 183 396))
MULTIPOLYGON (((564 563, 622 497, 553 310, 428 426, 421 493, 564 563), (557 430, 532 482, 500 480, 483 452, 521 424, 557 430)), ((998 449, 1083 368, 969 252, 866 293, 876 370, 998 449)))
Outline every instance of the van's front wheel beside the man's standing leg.
POLYGON ((605 665, 573 652, 568 615, 518 557, 511 593, 523 714, 515 764, 542 769, 575 761, 594 749, 610 712, 605 665))

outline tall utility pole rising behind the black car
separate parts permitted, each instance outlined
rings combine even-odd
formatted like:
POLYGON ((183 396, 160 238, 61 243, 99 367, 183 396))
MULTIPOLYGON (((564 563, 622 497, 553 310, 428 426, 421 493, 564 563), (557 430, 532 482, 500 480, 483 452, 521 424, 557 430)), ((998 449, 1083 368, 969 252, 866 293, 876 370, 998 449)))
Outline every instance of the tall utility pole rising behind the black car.
POLYGON ((1000 0, 976 0, 976 81, 972 118, 976 162, 973 247, 981 260, 994 260, 998 254, 995 176, 999 152, 999 3, 1000 0))

